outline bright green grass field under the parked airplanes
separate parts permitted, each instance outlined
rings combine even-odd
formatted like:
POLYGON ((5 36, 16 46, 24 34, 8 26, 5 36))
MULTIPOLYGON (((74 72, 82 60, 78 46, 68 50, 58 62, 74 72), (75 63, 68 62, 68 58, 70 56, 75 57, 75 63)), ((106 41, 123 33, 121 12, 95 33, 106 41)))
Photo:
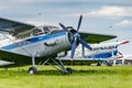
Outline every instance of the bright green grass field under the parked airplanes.
POLYGON ((131 66, 70 66, 72 75, 63 75, 43 66, 38 75, 29 75, 29 66, 0 68, 0 88, 132 88, 131 66), (19 70, 20 69, 20 70, 19 70))

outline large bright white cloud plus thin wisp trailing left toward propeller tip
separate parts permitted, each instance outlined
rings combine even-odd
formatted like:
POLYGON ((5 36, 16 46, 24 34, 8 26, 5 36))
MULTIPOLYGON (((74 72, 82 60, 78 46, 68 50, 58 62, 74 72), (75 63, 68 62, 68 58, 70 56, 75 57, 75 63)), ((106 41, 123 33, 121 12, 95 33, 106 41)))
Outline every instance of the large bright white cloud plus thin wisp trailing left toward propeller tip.
MULTIPOLYGON (((81 13, 67 14, 68 16, 78 16, 81 13)), ((100 9, 90 10, 86 13, 82 13, 84 16, 89 18, 127 18, 132 16, 132 7, 101 7, 100 9)))

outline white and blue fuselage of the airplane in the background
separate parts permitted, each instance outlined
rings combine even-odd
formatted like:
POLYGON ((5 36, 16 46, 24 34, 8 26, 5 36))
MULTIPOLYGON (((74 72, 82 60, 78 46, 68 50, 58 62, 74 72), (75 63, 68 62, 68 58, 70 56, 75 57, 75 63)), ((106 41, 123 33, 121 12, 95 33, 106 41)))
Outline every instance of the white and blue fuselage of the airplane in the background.
POLYGON ((87 53, 88 58, 106 59, 118 54, 116 44, 92 44, 92 51, 87 53))

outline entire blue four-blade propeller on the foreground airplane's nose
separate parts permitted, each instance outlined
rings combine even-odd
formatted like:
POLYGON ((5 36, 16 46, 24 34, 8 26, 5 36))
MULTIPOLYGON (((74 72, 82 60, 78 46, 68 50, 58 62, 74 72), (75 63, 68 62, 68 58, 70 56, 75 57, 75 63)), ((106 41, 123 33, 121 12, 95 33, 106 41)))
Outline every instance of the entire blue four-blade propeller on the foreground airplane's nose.
POLYGON ((74 58, 75 51, 76 51, 76 47, 77 47, 78 44, 81 44, 84 47, 91 51, 90 45, 88 45, 85 41, 82 41, 80 38, 79 33, 78 33, 78 31, 80 29, 80 25, 81 25, 81 20, 82 20, 82 15, 80 15, 80 18, 79 18, 77 30, 74 30, 74 31, 72 31, 72 30, 69 31, 63 23, 59 23, 59 25, 63 28, 63 30, 65 32, 68 32, 74 37, 74 40, 72 42, 72 53, 70 53, 72 61, 74 58))

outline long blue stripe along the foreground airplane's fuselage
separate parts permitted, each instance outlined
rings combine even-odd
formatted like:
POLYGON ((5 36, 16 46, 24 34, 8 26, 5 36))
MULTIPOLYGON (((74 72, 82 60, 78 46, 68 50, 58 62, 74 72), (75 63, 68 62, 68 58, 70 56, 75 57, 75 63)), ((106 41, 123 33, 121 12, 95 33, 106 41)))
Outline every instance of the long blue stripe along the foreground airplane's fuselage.
POLYGON ((14 43, 14 44, 10 44, 10 45, 3 46, 2 48, 4 48, 4 50, 13 50, 13 48, 16 48, 16 47, 20 47, 20 46, 34 44, 34 43, 52 40, 54 37, 59 37, 59 36, 64 36, 64 35, 66 35, 66 32, 48 34, 48 35, 43 35, 43 36, 37 36, 37 37, 31 37, 31 38, 24 40, 22 42, 18 42, 18 43, 14 43))

